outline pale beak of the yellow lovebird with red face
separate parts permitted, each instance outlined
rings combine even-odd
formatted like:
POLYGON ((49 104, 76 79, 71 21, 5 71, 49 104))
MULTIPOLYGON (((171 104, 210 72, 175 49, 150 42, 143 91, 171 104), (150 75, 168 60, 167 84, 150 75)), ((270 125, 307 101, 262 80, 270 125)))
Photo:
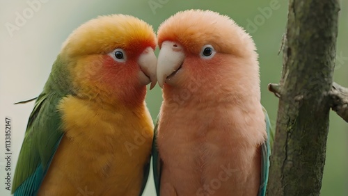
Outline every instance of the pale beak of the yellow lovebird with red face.
POLYGON ((157 82, 156 64, 157 58, 151 47, 147 47, 139 56, 138 64, 141 68, 139 79, 145 85, 151 82, 150 90, 155 87, 157 82))

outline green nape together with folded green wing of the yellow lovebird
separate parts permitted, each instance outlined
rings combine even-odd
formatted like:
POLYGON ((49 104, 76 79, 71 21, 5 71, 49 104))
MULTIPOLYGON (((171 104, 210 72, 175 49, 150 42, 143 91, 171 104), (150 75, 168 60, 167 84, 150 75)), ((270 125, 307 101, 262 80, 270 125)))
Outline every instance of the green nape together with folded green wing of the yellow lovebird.
POLYGON ((35 101, 15 169, 12 187, 15 195, 38 193, 63 136, 57 106, 63 97, 73 94, 65 65, 58 56, 43 92, 35 101))

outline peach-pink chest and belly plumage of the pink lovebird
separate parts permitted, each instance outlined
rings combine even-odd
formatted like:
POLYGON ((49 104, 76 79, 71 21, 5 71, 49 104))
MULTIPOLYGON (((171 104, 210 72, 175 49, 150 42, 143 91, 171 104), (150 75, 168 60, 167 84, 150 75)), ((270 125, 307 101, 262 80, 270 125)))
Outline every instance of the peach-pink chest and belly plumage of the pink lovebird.
POLYGON ((258 193, 263 115, 253 118, 238 107, 168 109, 162 108, 157 139, 161 193, 258 193))

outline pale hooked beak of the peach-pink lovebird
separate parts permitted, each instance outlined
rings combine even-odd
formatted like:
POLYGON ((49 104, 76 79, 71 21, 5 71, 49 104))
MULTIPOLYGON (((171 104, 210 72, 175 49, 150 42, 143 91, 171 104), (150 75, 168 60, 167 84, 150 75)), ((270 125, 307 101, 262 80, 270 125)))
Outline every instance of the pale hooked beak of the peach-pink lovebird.
POLYGON ((157 80, 161 88, 168 77, 180 70, 184 58, 184 50, 179 44, 171 41, 162 43, 157 59, 157 80))

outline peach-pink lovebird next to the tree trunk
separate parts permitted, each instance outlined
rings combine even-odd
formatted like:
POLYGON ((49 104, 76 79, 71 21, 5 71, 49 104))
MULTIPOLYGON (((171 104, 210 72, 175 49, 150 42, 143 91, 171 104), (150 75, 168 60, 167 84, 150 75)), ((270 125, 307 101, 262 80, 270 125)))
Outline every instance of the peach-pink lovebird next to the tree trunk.
POLYGON ((185 10, 157 39, 157 195, 265 195, 271 133, 251 36, 228 16, 185 10))

